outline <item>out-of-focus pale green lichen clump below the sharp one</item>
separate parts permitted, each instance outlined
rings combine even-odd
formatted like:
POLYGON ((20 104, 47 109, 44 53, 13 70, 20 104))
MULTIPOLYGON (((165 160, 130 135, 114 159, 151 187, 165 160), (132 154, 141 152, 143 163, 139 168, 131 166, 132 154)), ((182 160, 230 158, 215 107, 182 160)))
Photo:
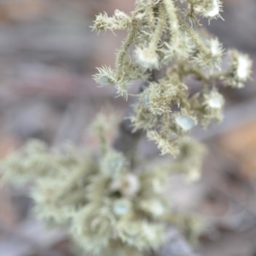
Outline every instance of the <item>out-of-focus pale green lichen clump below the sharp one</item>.
POLYGON ((78 148, 45 148, 32 141, 2 166, 13 182, 38 176, 32 198, 39 218, 69 225, 73 241, 87 253, 143 255, 160 246, 169 208, 165 168, 131 173, 125 156, 112 148, 99 164, 78 148))

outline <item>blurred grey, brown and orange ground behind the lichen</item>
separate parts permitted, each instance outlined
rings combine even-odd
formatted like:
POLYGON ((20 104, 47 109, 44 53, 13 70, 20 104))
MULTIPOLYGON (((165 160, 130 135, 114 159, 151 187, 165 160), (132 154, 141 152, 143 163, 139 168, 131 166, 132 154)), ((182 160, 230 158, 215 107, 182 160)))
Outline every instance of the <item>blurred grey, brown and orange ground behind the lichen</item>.
MULTIPOLYGON (((86 130, 96 113, 106 102, 122 113, 129 102, 91 79, 95 67, 113 66, 125 33, 96 35, 90 26, 99 12, 130 11, 133 3, 0 0, 0 159, 32 137, 51 146, 71 140, 96 148, 86 130)), ((255 62, 256 1, 225 0, 222 16, 225 21, 212 20, 209 31, 255 62)), ((201 181, 171 181, 177 208, 207 220, 197 245, 204 256, 256 255, 255 66, 253 78, 244 89, 222 90, 227 103, 221 125, 195 131, 208 147, 201 181)), ((140 151, 144 158, 158 154, 152 143, 142 142, 140 151)), ((26 188, 1 183, 0 255, 73 256, 65 230, 48 229, 31 208, 26 188)))

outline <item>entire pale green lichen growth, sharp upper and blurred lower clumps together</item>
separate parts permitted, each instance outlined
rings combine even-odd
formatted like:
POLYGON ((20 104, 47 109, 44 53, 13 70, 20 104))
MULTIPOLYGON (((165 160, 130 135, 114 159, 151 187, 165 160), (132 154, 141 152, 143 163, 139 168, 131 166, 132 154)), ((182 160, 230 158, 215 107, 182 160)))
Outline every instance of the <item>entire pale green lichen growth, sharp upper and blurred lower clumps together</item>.
POLYGON ((115 68, 98 68, 96 82, 113 84, 127 97, 132 80, 147 81, 128 118, 133 130, 146 131, 162 154, 175 156, 172 164, 131 169, 126 156, 108 142, 114 115, 105 119, 102 114, 91 129, 101 149, 94 157, 70 145, 49 150, 32 142, 3 161, 4 177, 12 182, 35 177, 32 198, 38 217, 67 225, 84 252, 142 256, 165 242, 167 224, 183 225, 189 233, 196 226, 174 214, 166 201, 168 175, 178 172, 189 181, 200 177, 205 150, 188 133, 195 125, 207 127, 222 119, 224 97, 216 82, 240 88, 252 67, 247 55, 233 49, 229 66, 219 71, 224 49, 198 26, 200 18, 220 17, 221 8, 219 0, 137 0, 131 15, 116 10, 113 17, 98 15, 94 23, 99 32, 128 31, 115 68), (160 69, 164 75, 152 78, 160 69), (201 82, 196 93, 189 90, 191 77, 201 82))

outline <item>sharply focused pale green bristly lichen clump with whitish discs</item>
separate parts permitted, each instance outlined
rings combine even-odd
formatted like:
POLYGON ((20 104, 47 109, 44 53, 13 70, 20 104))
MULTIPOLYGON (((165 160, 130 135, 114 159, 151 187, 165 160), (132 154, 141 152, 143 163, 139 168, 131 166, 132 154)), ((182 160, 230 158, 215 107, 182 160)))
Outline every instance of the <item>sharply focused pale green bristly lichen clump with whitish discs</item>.
POLYGON ((177 155, 178 140, 196 125, 207 128, 222 120, 224 97, 217 82, 241 88, 250 76, 252 61, 247 55, 235 49, 225 52, 218 38, 199 29, 201 18, 221 17, 221 11, 219 0, 137 0, 131 15, 117 10, 113 17, 96 18, 98 32, 128 31, 115 68, 98 68, 98 84, 113 84, 127 97, 132 80, 149 80, 152 70, 166 69, 139 94, 131 116, 134 131, 147 131, 162 154, 177 155), (221 70, 224 54, 229 65, 221 70), (186 84, 191 77, 201 81, 201 90, 194 95, 186 84))

